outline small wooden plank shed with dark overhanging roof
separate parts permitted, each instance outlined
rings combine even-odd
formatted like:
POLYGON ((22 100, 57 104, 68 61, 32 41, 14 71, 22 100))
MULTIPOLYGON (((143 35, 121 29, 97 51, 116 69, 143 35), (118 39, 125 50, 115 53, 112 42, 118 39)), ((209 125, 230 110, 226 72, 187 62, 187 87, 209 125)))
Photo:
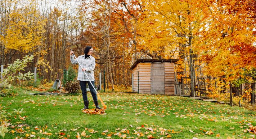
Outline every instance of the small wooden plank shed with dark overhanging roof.
POLYGON ((132 67, 132 90, 139 94, 174 94, 177 59, 137 59, 132 67))

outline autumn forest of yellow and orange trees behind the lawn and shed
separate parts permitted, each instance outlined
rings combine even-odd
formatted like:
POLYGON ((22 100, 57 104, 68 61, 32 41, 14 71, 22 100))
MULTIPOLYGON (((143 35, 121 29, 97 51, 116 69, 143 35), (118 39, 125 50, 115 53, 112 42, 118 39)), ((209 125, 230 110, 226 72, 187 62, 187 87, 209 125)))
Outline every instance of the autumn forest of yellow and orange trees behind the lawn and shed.
MULTIPOLYGON (((206 79, 213 98, 255 103, 255 0, 1 0, 0 62, 34 55, 41 84, 63 77, 76 56, 94 48, 95 77, 131 86, 136 59, 179 59, 181 77, 206 79), (233 98, 234 97, 234 98, 233 98)), ((191 87, 193 91, 193 87, 191 87)))

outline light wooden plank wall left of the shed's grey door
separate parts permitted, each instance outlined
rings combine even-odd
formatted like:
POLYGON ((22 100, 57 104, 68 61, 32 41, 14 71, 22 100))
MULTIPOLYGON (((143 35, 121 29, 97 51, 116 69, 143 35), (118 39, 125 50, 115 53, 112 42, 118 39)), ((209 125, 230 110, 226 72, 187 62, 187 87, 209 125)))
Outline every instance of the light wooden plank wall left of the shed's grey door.
POLYGON ((133 69, 133 90, 138 91, 138 72, 139 72, 139 93, 151 93, 151 63, 139 63, 133 69))

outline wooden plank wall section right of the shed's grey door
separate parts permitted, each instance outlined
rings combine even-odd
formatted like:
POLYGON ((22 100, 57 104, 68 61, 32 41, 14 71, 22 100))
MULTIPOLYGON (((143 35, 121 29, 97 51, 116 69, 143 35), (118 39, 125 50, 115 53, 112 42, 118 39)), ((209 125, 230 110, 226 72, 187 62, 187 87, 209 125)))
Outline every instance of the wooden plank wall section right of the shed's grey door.
POLYGON ((165 94, 174 95, 174 63, 164 63, 165 94))

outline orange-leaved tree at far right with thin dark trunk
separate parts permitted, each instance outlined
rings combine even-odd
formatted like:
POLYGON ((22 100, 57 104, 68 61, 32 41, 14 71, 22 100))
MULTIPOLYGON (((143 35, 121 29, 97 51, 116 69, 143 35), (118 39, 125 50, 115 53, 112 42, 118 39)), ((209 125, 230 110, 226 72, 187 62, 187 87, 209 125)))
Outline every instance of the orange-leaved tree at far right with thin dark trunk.
POLYGON ((229 88, 243 74, 243 69, 255 67, 255 19, 252 18, 255 15, 250 14, 255 5, 253 3, 204 0, 198 5, 204 17, 196 43, 199 46, 197 51, 201 53, 203 61, 208 63, 205 66, 206 73, 222 78, 229 88))

